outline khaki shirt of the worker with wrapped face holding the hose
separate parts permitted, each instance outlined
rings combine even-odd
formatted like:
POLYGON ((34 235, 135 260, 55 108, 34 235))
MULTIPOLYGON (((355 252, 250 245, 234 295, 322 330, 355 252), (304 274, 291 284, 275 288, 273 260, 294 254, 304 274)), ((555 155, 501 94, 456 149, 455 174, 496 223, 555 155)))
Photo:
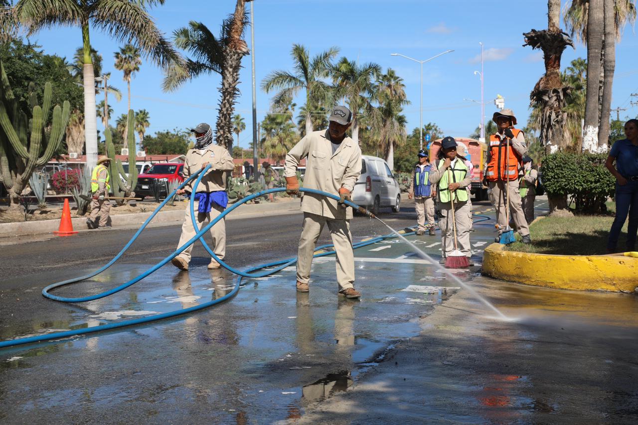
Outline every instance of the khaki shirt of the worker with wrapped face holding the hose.
MULTIPOLYGON (((211 169, 209 169, 206 175, 202 178, 202 181, 195 192, 225 191, 226 176, 224 171, 233 171, 235 164, 233 163, 233 157, 230 156, 228 150, 212 143, 205 149, 191 149, 188 151, 186 154, 186 161, 184 163, 184 171, 182 171, 184 180, 197 173, 199 169, 202 169, 202 164, 205 162, 211 163, 211 169)), ((197 180, 197 178, 195 178, 192 182, 189 182, 184 189, 192 192, 195 180, 197 180)))

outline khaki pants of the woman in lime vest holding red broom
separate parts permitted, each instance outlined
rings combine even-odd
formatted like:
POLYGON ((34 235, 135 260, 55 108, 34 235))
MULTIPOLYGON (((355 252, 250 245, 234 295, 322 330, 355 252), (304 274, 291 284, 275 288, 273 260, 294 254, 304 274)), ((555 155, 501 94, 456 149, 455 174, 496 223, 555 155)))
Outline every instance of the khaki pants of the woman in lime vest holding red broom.
MULTIPOLYGON (((443 257, 447 257, 454 250, 454 228, 452 227, 452 205, 447 203, 438 204, 441 217, 439 228, 441 229, 441 243, 443 243, 443 257)), ((459 251, 466 257, 471 256, 470 229, 472 220, 468 215, 470 205, 467 202, 454 203, 454 220, 456 221, 456 240, 459 251)))

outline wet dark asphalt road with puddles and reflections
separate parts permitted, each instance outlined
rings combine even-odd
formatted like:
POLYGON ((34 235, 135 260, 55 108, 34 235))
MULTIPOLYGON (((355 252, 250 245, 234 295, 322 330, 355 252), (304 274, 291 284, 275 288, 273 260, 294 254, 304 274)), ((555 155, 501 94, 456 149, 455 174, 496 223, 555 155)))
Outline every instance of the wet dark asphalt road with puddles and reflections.
MULTIPOLYGON (((382 218, 395 228, 412 225, 407 207, 382 218)), ((293 256, 300 217, 228 221, 226 259, 248 267, 293 256)), ((357 217, 353 238, 387 233, 381 226, 357 217)), ((334 259, 324 257, 313 264, 309 294, 292 290, 289 268, 245 281, 232 301, 192 315, 0 350, 0 422, 635 423, 635 296, 481 277, 493 221, 475 227, 477 266, 455 276, 514 321, 494 320, 438 267, 386 240, 355 252, 361 301, 335 296, 334 259), (406 291, 410 285, 417 292, 406 291), (447 289, 424 293, 422 285, 447 289)), ((186 308, 223 296, 235 282, 226 271, 208 271, 196 247, 188 273, 169 264, 82 305, 41 297, 45 284, 101 266, 131 234, 3 247, 0 339, 186 308), (95 261, 96 252, 105 259, 95 261), (25 259, 34 268, 25 270, 25 259)), ((169 254, 178 237, 177 227, 149 229, 100 278, 56 293, 113 287, 169 254)), ((438 259, 438 232, 410 240, 438 259)))

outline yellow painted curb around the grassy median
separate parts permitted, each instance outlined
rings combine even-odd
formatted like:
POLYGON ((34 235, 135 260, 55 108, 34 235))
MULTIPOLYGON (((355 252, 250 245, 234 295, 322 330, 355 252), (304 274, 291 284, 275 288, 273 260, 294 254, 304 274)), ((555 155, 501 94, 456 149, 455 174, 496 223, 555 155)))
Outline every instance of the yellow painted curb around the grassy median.
POLYGON ((523 284, 577 291, 634 292, 638 258, 553 256, 507 251, 493 243, 483 254, 483 273, 523 284))

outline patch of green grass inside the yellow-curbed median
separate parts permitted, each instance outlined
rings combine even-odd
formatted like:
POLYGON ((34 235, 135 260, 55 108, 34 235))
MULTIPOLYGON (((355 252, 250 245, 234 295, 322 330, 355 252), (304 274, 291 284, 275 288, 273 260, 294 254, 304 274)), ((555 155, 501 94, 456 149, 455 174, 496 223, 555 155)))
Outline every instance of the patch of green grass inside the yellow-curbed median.
MULTIPOLYGON (((607 207, 610 212, 614 212, 613 203, 607 203, 607 207)), ((545 217, 530 226, 530 245, 521 243, 521 237, 517 234, 517 241, 506 249, 574 256, 607 254, 607 236, 613 221, 613 215, 545 217)), ((618 240, 619 251, 624 249, 626 238, 627 222, 618 240)))

